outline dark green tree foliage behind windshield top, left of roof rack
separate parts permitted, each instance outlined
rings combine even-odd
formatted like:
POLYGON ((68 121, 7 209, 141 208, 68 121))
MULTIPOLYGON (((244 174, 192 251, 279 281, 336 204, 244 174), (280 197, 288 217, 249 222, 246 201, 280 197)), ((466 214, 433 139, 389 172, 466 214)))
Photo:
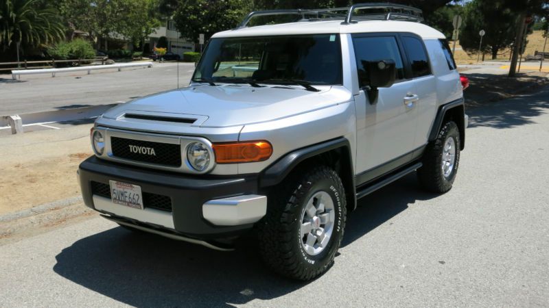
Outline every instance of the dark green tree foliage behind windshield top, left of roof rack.
POLYGON ((247 0, 181 0, 174 22, 182 37, 198 42, 199 34, 209 38, 236 27, 250 10, 247 0))

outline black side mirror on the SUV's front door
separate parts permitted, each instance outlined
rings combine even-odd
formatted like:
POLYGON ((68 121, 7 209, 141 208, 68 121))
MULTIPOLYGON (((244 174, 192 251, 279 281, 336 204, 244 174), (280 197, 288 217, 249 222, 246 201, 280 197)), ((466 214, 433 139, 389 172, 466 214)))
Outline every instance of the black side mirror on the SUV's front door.
POLYGON ((362 61, 363 70, 359 70, 359 83, 368 93, 368 99, 373 104, 377 101, 377 88, 389 88, 395 84, 397 68, 393 60, 362 61))

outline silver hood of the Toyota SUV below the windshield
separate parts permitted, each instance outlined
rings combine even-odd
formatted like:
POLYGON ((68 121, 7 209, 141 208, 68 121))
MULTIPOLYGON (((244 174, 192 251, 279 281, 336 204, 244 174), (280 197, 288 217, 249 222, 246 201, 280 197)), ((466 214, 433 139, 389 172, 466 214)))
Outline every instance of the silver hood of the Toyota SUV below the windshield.
POLYGON ((311 112, 346 103, 352 97, 342 86, 316 87, 321 91, 310 92, 300 86, 196 85, 124 103, 104 117, 128 121, 126 114, 154 114, 196 119, 195 127, 231 127, 311 112))

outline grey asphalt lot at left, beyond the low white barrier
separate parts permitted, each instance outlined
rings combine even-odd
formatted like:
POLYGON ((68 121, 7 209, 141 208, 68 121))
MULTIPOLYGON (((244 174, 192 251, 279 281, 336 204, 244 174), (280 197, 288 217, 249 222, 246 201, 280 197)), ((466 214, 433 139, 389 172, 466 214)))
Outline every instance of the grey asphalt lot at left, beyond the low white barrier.
MULTIPOLYGON (((193 63, 179 64, 179 86, 187 86, 193 63)), ((152 68, 123 68, 27 75, 12 80, 0 75, 0 116, 27 114, 90 105, 108 105, 177 88, 176 62, 154 62, 152 68)))

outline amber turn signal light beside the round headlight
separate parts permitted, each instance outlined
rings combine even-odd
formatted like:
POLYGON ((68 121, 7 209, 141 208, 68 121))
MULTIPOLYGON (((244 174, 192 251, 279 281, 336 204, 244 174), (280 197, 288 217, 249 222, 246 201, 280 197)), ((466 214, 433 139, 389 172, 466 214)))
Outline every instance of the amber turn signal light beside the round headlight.
POLYGON ((214 143, 213 152, 218 164, 262 162, 272 154, 272 145, 265 140, 214 143))

